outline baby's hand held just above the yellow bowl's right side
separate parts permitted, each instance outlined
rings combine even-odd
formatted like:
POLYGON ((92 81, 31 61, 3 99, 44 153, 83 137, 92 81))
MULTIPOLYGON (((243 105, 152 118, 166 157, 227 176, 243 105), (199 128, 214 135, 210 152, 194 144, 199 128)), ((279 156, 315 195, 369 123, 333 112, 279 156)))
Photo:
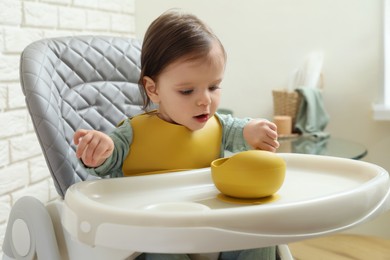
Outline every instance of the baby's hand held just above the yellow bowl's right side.
POLYGON ((245 125, 245 141, 254 149, 275 152, 279 147, 276 125, 265 119, 252 119, 245 125))

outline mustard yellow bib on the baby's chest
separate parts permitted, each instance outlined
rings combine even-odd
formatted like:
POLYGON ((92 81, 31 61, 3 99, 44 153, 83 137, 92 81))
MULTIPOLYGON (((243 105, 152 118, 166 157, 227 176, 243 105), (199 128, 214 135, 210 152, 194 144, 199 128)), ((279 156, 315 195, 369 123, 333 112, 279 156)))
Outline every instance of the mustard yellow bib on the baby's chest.
POLYGON ((124 176, 210 167, 220 156, 222 126, 215 116, 197 131, 156 114, 139 115, 130 122, 133 142, 123 162, 124 176))

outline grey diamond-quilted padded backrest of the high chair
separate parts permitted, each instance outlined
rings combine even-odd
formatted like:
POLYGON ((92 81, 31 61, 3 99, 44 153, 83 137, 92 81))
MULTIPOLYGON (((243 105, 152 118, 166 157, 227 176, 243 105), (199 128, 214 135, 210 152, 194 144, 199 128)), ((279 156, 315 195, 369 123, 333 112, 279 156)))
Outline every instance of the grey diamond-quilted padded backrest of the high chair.
POLYGON ((20 81, 46 163, 60 196, 89 176, 75 156, 79 128, 110 132, 142 111, 141 45, 109 36, 43 39, 27 46, 20 81))

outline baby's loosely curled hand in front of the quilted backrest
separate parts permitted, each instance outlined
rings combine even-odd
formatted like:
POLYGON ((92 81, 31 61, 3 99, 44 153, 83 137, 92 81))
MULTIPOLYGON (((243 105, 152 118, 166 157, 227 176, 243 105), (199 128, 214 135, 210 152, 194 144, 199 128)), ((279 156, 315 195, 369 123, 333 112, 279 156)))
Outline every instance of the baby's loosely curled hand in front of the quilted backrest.
POLYGON ((77 145, 77 158, 81 158, 83 163, 91 168, 103 164, 114 151, 112 139, 108 135, 95 130, 77 130, 73 136, 73 141, 77 145))

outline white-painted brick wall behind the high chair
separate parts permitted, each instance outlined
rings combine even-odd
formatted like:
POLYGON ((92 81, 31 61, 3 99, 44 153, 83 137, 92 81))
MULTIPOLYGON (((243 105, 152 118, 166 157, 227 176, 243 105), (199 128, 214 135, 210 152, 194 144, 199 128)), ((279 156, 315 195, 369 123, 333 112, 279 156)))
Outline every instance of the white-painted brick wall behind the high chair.
POLYGON ((19 85, 19 57, 41 38, 76 34, 135 36, 135 0, 0 0, 0 259, 12 205, 58 195, 19 85))

